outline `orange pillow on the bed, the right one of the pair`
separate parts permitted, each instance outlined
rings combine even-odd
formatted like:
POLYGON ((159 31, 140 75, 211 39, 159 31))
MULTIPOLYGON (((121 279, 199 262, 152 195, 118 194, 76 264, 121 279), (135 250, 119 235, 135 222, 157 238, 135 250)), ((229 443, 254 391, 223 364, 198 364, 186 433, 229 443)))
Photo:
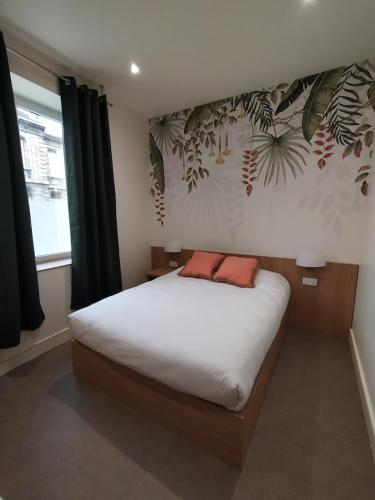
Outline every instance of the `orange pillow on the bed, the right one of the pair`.
POLYGON ((227 257, 215 273, 213 281, 243 288, 254 288, 259 262, 251 257, 227 257))

